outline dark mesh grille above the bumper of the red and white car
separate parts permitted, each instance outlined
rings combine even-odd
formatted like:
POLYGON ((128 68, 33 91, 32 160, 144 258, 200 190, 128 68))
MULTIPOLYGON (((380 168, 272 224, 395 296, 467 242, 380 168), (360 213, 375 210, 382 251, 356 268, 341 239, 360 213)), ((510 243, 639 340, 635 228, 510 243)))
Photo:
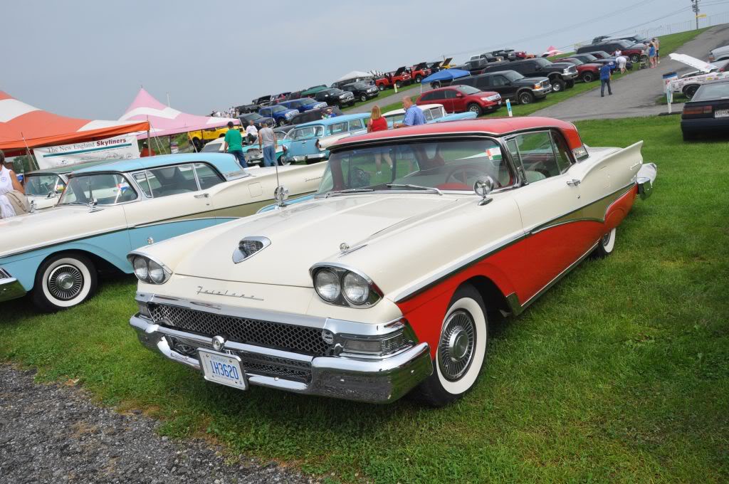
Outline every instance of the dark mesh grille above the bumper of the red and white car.
POLYGON ((323 356, 329 348, 321 339, 321 329, 238 318, 167 304, 151 304, 149 312, 155 323, 161 326, 210 337, 220 335, 238 343, 313 356, 323 356))

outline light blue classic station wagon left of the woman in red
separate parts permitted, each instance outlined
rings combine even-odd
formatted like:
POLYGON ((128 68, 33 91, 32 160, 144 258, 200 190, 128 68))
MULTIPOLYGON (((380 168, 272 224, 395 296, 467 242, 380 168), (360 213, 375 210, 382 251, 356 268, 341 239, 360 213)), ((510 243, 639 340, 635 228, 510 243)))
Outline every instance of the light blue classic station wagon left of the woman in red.
POLYGON ((332 144, 353 134, 367 133, 369 120, 370 113, 343 114, 298 125, 287 136, 291 141, 281 161, 316 163, 327 160, 332 144))

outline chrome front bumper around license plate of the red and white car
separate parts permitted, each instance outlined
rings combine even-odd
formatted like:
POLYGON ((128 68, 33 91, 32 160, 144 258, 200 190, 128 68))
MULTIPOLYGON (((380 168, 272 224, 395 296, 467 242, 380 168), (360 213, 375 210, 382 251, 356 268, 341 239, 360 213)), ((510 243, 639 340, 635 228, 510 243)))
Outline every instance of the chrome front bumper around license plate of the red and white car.
MULTIPOLYGON (((139 313, 132 316, 129 323, 144 346, 200 371, 198 357, 174 351, 170 346, 171 341, 184 341, 186 345, 195 348, 213 348, 211 337, 161 327, 139 313)), ((308 356, 234 341, 226 341, 220 351, 243 359, 286 360, 311 368, 311 380, 304 383, 284 377, 258 375, 254 370, 246 369, 243 363, 243 371, 251 385, 369 403, 394 402, 405 396, 433 371, 428 343, 419 343, 379 359, 308 356)))

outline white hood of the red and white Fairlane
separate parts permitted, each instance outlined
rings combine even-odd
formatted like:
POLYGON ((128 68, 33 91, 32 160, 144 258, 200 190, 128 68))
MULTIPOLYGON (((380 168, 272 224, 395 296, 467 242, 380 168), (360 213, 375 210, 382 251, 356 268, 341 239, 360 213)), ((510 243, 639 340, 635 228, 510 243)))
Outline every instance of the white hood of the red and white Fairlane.
POLYGON ((372 250, 375 238, 440 214, 458 202, 456 197, 430 194, 319 198, 220 225, 173 270, 182 276, 311 287, 309 268, 338 259, 340 244, 352 249, 364 244, 372 250), (245 237, 268 238, 270 246, 235 264, 233 252, 245 237))

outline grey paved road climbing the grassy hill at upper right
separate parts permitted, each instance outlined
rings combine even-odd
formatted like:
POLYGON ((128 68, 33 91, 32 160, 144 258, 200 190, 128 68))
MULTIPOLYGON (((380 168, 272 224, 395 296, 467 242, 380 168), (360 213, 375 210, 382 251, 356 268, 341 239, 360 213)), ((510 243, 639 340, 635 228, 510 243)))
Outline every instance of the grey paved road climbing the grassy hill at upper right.
MULTIPOLYGON (((717 26, 684 44, 678 52, 706 59, 709 50, 729 44, 729 26, 717 26)), ((612 83, 612 96, 600 97, 600 90, 590 90, 532 114, 555 117, 565 121, 598 120, 605 118, 653 116, 668 112, 665 105, 656 106, 655 99, 663 89, 663 74, 689 71, 691 68, 668 56, 656 69, 643 69, 612 83)), ((674 104, 673 112, 681 112, 682 104, 674 104)))

